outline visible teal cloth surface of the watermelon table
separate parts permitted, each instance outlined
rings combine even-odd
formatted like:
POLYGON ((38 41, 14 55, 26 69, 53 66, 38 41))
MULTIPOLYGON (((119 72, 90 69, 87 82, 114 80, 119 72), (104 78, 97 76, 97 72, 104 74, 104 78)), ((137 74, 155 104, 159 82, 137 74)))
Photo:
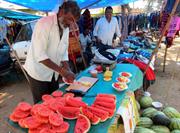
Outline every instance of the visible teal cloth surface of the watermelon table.
MULTIPOLYGON (((88 69, 85 71, 81 72, 77 79, 82 77, 82 76, 88 76, 91 77, 90 73, 88 73, 88 69)), ((127 91, 135 91, 142 87, 143 84, 143 74, 140 71, 138 67, 136 67, 133 64, 117 64, 116 68, 113 70, 113 76, 111 81, 104 81, 103 80, 103 73, 98 74, 98 81, 92 88, 83 96, 83 101, 86 102, 88 105, 91 105, 94 100, 95 96, 98 93, 107 93, 107 94, 114 94, 116 95, 116 111, 119 108, 122 100, 125 97, 125 94, 127 91), (112 83, 116 82, 116 78, 118 77, 120 72, 129 72, 132 74, 132 77, 130 78, 131 82, 128 84, 128 89, 126 91, 118 92, 112 87, 112 83)), ((67 88, 67 86, 63 86, 59 90, 64 91, 67 88)), ((111 126, 113 120, 115 118, 115 115, 111 118, 108 119, 107 121, 100 123, 95 126, 91 126, 90 128, 90 133, 106 133, 108 131, 108 128, 111 126)), ((74 127, 75 127, 75 122, 76 120, 68 120, 70 124, 70 129, 68 133, 73 133, 74 127)), ((9 122, 11 125, 12 122, 9 122)), ((13 125, 15 126, 15 125, 13 125)))

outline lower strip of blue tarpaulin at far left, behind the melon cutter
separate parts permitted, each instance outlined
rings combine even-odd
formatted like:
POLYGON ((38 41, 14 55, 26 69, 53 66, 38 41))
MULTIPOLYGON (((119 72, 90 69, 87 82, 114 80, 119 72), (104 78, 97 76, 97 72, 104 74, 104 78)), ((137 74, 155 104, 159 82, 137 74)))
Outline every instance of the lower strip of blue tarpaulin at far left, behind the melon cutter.
POLYGON ((0 8, 0 17, 21 19, 21 20, 34 20, 34 19, 40 18, 40 16, 31 15, 31 14, 23 13, 23 12, 7 10, 7 9, 3 9, 3 8, 0 8))

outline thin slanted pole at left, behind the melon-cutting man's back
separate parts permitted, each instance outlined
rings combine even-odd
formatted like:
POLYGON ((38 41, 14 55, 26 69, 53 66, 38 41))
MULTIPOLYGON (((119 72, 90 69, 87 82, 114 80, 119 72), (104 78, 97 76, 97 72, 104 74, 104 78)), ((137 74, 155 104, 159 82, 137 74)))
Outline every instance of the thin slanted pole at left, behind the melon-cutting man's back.
POLYGON ((15 56, 15 58, 16 58, 18 64, 19 64, 19 66, 20 66, 22 72, 24 73, 24 76, 26 77, 28 83, 30 84, 30 80, 29 80, 29 78, 28 78, 28 76, 27 76, 27 73, 25 72, 23 66, 21 65, 21 62, 20 62, 20 60, 19 60, 19 57, 18 57, 16 51, 13 49, 13 47, 12 47, 12 45, 11 45, 11 43, 10 43, 10 41, 9 41, 9 39, 8 39, 7 37, 5 37, 5 40, 6 40, 7 44, 9 45, 9 47, 11 48, 12 53, 14 54, 14 56, 15 56))

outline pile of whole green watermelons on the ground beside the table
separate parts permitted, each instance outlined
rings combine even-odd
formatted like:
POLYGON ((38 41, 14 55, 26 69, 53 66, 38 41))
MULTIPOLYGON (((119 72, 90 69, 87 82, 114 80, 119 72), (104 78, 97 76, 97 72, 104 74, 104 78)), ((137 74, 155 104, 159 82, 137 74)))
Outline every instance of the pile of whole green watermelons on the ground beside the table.
POLYGON ((141 117, 134 133, 180 133, 180 113, 173 107, 156 109, 152 103, 150 96, 137 101, 141 117))

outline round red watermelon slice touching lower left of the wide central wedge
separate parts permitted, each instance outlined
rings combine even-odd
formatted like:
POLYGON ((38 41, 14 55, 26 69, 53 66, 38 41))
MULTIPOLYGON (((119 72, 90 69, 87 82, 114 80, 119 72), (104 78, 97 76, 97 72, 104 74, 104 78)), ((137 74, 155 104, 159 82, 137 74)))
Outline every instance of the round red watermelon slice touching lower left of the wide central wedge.
POLYGON ((49 116, 49 123, 54 126, 60 126, 63 123, 62 115, 57 113, 51 113, 49 116))

